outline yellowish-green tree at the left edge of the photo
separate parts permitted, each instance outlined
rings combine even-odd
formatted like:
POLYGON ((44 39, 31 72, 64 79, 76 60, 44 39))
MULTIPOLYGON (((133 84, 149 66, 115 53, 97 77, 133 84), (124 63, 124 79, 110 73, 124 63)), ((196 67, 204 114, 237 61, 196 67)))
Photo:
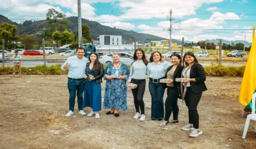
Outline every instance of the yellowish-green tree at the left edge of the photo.
POLYGON ((2 22, 0 24, 0 39, 5 40, 5 46, 8 48, 10 42, 18 41, 20 38, 18 35, 18 29, 16 25, 10 25, 8 23, 2 22))

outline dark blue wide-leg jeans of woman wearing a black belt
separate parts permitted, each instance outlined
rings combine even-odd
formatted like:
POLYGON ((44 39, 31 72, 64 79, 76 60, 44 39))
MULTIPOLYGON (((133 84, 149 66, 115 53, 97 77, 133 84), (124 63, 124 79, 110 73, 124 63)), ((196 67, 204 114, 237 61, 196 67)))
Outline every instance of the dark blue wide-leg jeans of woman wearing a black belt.
POLYGON ((164 116, 163 95, 165 88, 163 83, 149 81, 149 92, 151 94, 151 119, 162 120, 164 116))

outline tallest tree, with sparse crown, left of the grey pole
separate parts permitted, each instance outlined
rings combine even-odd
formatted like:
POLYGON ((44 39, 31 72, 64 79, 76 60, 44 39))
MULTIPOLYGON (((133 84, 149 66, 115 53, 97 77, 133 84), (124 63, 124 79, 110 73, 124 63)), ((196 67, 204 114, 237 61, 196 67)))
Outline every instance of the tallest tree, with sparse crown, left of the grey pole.
POLYGON ((43 23, 47 29, 42 34, 42 37, 51 37, 54 31, 58 30, 63 32, 68 28, 69 20, 67 16, 61 12, 51 8, 46 13, 46 22, 43 23))

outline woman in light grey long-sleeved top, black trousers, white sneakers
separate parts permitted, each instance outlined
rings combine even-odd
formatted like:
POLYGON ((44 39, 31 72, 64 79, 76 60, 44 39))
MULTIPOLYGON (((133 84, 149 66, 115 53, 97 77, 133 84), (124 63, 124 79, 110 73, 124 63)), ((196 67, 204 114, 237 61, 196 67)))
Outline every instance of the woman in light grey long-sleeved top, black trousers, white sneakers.
POLYGON ((134 98, 134 106, 136 109, 136 114, 133 118, 138 119, 140 117, 140 121, 145 121, 145 106, 143 95, 146 88, 146 72, 148 60, 146 59, 143 49, 136 49, 134 51, 133 60, 134 61, 130 65, 130 76, 127 82, 127 87, 130 83, 137 85, 137 88, 131 89, 134 98), (141 114, 139 113, 139 108, 141 114))

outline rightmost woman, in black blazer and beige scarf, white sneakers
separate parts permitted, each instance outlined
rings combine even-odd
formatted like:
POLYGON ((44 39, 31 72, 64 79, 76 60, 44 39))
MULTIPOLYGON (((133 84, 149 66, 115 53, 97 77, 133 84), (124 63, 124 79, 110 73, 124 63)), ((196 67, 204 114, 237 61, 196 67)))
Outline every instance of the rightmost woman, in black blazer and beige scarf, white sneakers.
POLYGON ((182 71, 182 76, 185 78, 183 83, 184 87, 182 99, 184 97, 186 106, 188 107, 188 121, 189 124, 182 127, 182 130, 189 131, 190 137, 198 137, 203 132, 199 129, 199 115, 197 112, 197 106, 201 99, 202 92, 206 91, 204 81, 206 80, 206 74, 204 68, 197 61, 197 58, 192 52, 186 52, 183 59, 183 65, 185 62, 185 67, 182 71))

